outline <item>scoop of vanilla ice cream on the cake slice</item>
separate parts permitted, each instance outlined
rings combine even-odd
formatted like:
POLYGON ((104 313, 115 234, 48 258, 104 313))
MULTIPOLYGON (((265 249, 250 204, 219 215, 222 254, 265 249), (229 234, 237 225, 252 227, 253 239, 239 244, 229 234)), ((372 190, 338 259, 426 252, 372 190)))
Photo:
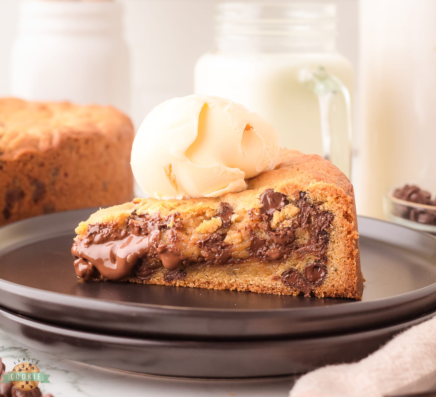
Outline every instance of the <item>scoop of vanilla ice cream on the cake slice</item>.
POLYGON ((279 137, 257 113, 229 99, 190 95, 155 107, 133 141, 131 166, 157 199, 218 197, 245 190, 271 169, 279 137))

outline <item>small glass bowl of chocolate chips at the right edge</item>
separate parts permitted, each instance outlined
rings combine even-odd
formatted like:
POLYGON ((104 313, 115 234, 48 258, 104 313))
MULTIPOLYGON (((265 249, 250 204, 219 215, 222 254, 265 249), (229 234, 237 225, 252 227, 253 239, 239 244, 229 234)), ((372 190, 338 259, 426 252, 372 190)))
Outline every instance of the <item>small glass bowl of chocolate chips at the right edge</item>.
POLYGON ((436 234, 436 195, 417 185, 395 188, 383 198, 385 215, 393 222, 436 234))

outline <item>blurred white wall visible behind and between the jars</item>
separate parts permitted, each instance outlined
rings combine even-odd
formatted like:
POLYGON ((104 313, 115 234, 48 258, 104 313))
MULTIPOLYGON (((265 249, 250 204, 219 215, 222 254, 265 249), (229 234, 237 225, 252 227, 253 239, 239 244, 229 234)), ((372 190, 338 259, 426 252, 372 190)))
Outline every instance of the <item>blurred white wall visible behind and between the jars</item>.
MULTIPOLYGON (((52 0, 53 1, 53 0, 52 0)), ((160 102, 193 90, 197 58, 212 49, 216 0, 118 0, 132 58, 131 116, 138 125, 160 102)), ((338 48, 358 65, 358 0, 323 1, 338 7, 338 48)), ((9 55, 20 0, 0 0, 0 96, 8 96, 9 55)))

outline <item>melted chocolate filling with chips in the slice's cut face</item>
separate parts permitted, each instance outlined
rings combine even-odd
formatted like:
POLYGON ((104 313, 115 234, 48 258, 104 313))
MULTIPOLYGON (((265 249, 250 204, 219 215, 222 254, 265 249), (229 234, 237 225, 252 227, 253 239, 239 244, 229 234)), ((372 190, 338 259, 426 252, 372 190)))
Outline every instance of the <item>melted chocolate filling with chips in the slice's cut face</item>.
POLYGON ((282 281, 307 293, 326 276, 323 263, 333 214, 321 210, 319 204, 307 199, 305 192, 300 192, 299 198, 290 202, 282 193, 268 189, 259 200, 260 210, 249 211, 251 222, 243 232, 249 245, 245 243, 243 250, 235 250, 225 242, 234 213, 232 206, 225 202, 219 204, 215 216, 221 219, 221 227, 194 242, 189 250, 187 235, 181 234, 183 221, 177 212, 162 219, 157 215, 137 215, 133 211, 125 228, 121 229, 112 223, 89 225, 85 235, 77 238, 72 246, 76 274, 85 280, 130 277, 148 280, 164 267, 166 281, 174 281, 183 279, 186 268, 195 264, 240 264, 252 259, 274 262, 292 255, 307 258, 308 265, 304 274, 282 274, 282 281), (290 203, 298 209, 296 215, 287 219, 286 227, 272 228, 274 213, 290 203))

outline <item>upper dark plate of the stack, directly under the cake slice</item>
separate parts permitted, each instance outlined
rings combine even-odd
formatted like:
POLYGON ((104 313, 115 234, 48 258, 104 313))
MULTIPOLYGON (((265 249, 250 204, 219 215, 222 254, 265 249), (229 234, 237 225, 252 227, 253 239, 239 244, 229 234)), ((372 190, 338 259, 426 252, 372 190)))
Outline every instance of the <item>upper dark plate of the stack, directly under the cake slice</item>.
POLYGON ((43 322, 113 335, 268 339, 381 327, 435 308, 436 238, 360 218, 363 300, 78 281, 73 229, 93 209, 0 229, 0 306, 43 322))

